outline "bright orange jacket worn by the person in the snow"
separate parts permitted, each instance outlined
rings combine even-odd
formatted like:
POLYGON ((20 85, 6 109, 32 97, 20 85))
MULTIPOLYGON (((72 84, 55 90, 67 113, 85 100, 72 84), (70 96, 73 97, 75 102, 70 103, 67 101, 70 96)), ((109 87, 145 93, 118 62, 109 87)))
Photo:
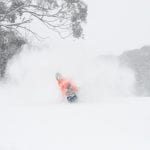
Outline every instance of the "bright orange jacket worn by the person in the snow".
POLYGON ((60 81, 58 81, 58 85, 60 87, 60 90, 62 92, 62 94, 65 96, 66 95, 66 92, 68 90, 68 88, 70 87, 74 92, 77 92, 78 91, 78 88, 76 85, 74 85, 71 81, 69 80, 65 80, 65 79, 62 79, 60 81))

